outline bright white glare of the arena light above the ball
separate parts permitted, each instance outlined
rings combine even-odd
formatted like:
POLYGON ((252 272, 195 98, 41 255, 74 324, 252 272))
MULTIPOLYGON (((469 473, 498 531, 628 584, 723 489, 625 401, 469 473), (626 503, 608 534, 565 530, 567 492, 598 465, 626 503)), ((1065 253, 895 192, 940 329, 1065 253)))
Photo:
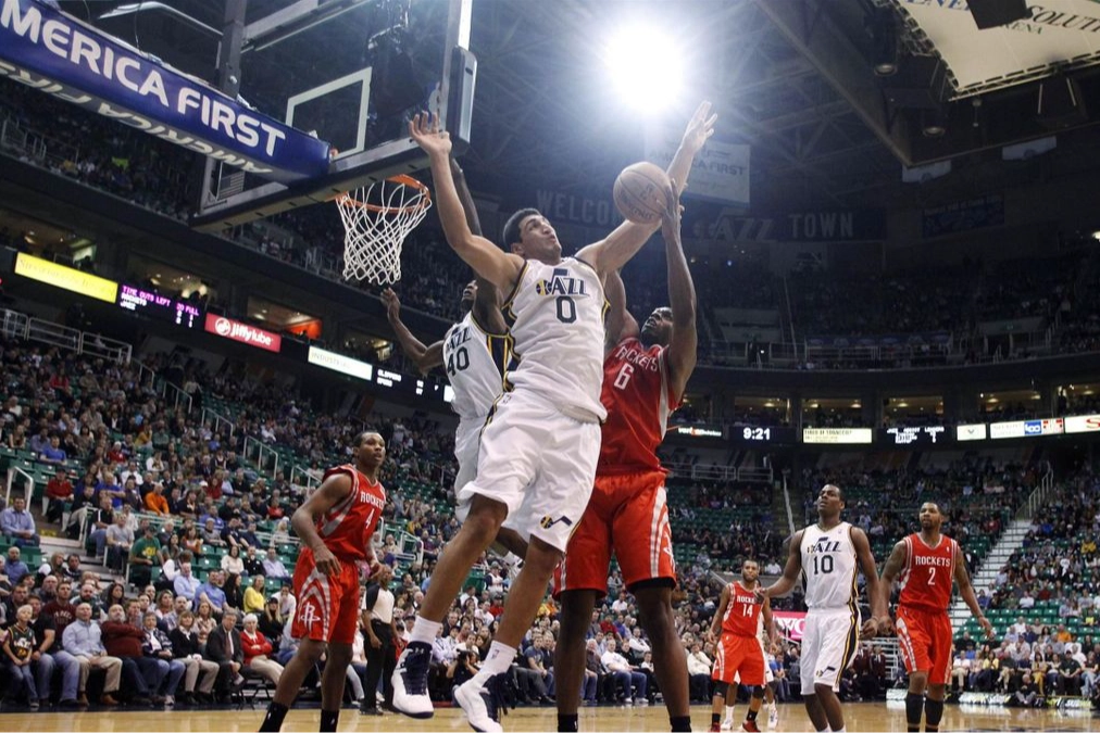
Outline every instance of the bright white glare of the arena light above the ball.
POLYGON ((607 44, 606 59, 612 82, 629 107, 656 112, 676 100, 682 60, 673 41, 659 29, 623 29, 607 44))

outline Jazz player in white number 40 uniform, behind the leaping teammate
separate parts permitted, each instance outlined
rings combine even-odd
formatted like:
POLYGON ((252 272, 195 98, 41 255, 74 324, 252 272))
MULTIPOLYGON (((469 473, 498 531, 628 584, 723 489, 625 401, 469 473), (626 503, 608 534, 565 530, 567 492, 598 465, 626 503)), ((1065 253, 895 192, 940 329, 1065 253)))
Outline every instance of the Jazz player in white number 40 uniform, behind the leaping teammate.
MULTIPOLYGON (((473 198, 465 185, 465 177, 458 162, 451 158, 451 174, 466 223, 471 231, 481 234, 481 222, 473 198)), ((405 354, 416 363, 421 373, 441 366, 454 390, 451 409, 459 415, 459 427, 454 433, 454 457, 459 471, 454 476, 454 493, 477 475, 477 448, 482 426, 496 398, 501 396, 504 373, 512 358, 510 342, 504 316, 501 314, 499 298, 491 282, 476 278, 462 290, 462 308, 466 314, 448 329, 442 340, 425 345, 408 326, 402 322, 402 303, 397 293, 386 288, 382 293, 386 306, 386 318, 393 326, 397 342, 405 354)), ((455 515, 465 521, 470 501, 460 501, 455 515)), ((527 541, 508 520, 497 533, 494 551, 504 556, 508 552, 522 559, 527 553, 527 541)))

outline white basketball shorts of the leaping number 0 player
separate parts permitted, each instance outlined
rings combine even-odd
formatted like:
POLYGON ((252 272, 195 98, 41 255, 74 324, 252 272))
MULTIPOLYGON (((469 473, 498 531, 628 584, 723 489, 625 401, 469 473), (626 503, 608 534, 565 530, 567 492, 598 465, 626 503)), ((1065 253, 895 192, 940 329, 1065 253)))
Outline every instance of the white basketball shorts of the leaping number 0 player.
POLYGON ((562 414, 524 390, 497 400, 481 433, 477 477, 459 503, 482 495, 508 508, 508 525, 565 552, 581 523, 600 458, 598 422, 562 414))

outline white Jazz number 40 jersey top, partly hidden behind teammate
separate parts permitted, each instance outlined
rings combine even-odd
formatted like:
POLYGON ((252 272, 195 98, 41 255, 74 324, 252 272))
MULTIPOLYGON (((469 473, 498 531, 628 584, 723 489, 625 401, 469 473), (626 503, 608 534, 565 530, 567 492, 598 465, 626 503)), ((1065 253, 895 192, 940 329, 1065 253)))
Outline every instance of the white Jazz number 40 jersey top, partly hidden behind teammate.
POLYGON ((508 358, 506 334, 483 329, 473 313, 452 325, 443 336, 443 368, 454 389, 451 408, 460 418, 482 419, 501 396, 508 358))

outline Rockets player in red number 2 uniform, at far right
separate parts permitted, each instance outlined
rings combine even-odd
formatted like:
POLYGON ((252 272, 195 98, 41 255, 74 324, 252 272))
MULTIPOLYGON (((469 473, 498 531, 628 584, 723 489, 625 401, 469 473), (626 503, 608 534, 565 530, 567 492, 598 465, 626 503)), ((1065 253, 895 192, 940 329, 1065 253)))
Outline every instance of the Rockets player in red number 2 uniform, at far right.
POLYGON ((936 733, 939 730, 952 670, 953 631, 947 609, 952 602, 953 582, 958 582, 959 595, 986 634, 991 636, 993 633, 993 626, 982 614, 974 595, 959 544, 939 532, 943 523, 938 504, 932 501, 921 504, 921 531, 894 545, 879 584, 883 606, 890 602, 894 580, 901 587, 894 626, 901 657, 909 671, 909 695, 905 697, 909 733, 920 733, 922 717, 925 731, 936 733))

